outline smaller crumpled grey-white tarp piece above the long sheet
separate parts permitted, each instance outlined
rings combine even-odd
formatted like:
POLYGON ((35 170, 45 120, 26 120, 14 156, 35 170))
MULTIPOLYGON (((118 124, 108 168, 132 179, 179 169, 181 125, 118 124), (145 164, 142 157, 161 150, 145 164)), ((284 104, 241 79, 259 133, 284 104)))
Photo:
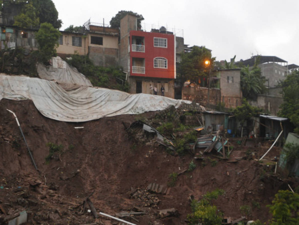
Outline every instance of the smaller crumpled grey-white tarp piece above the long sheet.
POLYGON ((52 58, 52 66, 37 64, 37 73, 40 78, 56 81, 65 89, 78 88, 80 86, 92 87, 91 82, 81 73, 68 65, 60 57, 52 58))

